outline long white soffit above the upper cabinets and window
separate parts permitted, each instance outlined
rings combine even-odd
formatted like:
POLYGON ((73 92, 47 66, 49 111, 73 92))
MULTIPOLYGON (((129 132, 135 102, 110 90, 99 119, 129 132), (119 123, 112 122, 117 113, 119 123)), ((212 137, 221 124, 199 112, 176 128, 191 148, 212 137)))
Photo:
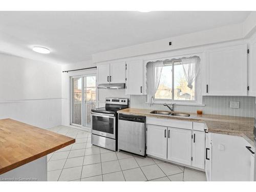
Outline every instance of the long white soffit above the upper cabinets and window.
POLYGON ((246 20, 239 24, 227 25, 219 28, 146 42, 144 44, 95 53, 92 55, 92 60, 93 62, 102 62, 165 51, 196 48, 198 46, 248 38, 255 32, 256 12, 251 12, 246 20), (172 46, 168 45, 169 41, 172 41, 172 46))

